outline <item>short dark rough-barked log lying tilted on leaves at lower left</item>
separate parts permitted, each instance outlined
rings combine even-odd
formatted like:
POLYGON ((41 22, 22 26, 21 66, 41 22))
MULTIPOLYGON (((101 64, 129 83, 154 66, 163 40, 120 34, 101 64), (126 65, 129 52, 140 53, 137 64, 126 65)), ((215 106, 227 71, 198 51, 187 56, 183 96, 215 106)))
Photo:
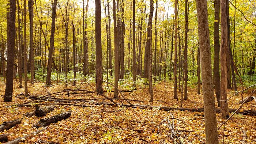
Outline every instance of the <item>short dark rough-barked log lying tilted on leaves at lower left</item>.
POLYGON ((41 119, 34 126, 36 128, 45 127, 45 126, 50 125, 51 123, 55 123, 55 122, 58 122, 58 121, 61 121, 61 120, 65 120, 65 119, 69 118, 70 115, 71 115, 71 110, 69 110, 69 111, 67 111, 65 113, 54 115, 54 116, 52 116, 50 118, 41 119))

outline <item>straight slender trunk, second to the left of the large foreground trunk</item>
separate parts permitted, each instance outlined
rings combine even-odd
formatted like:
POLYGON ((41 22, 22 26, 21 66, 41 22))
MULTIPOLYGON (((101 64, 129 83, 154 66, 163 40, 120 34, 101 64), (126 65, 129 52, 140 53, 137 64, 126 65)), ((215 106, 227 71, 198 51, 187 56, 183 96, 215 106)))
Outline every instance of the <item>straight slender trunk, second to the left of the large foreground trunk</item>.
MULTIPOLYGON (((185 47, 184 47, 184 100, 188 99, 188 0, 185 1, 185 47)), ((199 73, 200 76, 200 73, 199 73)))

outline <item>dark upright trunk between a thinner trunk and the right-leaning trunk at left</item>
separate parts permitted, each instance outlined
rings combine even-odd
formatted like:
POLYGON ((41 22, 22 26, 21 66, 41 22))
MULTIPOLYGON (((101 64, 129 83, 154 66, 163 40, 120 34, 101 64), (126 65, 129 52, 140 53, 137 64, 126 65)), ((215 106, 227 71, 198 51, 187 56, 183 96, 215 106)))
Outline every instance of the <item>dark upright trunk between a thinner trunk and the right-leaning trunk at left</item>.
POLYGON ((33 17, 34 17, 34 1, 29 0, 29 53, 30 53, 30 70, 31 70, 31 83, 34 83, 34 32, 33 32, 33 17))

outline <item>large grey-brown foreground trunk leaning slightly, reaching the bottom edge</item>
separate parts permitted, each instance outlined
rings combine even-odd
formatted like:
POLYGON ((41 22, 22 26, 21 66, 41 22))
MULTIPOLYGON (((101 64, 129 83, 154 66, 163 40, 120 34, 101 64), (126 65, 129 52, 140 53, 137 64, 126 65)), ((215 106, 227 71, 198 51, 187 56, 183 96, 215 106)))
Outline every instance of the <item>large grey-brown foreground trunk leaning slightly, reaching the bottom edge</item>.
POLYGON ((200 61, 202 68, 202 87, 204 97, 204 124, 207 144, 218 144, 218 130, 214 102, 214 90, 211 69, 210 32, 208 26, 207 1, 197 0, 197 21, 200 61))

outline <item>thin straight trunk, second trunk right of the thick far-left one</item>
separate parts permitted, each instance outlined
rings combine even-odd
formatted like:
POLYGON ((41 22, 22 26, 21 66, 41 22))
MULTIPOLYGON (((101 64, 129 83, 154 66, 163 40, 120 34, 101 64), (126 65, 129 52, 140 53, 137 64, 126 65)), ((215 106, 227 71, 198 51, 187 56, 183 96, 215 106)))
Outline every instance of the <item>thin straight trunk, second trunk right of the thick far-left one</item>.
POLYGON ((28 95, 27 91, 27 37, 26 37, 26 29, 27 29, 27 24, 26 24, 26 0, 24 0, 24 95, 28 95))

